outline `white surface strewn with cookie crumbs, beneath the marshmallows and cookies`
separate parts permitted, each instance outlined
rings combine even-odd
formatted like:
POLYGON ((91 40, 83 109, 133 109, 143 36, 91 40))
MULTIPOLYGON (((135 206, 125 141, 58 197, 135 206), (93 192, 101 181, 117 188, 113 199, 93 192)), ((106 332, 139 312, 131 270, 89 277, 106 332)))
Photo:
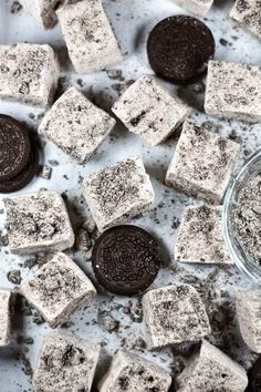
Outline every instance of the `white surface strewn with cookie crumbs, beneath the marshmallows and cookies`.
MULTIPOLYGON (((217 51, 216 59, 228 61, 242 61, 253 64, 261 63, 261 47, 260 42, 249 33, 231 21, 228 12, 232 7, 232 1, 219 0, 216 1, 212 10, 208 14, 206 23, 213 32, 217 51), (220 39, 228 43, 223 45, 220 39)), ((12 0, 1 0, 0 2, 0 43, 15 43, 15 42, 38 42, 50 43, 54 49, 59 50, 64 47, 61 37, 60 27, 51 31, 43 31, 39 28, 34 20, 20 11, 18 14, 10 13, 12 0)), ((122 51, 124 53, 125 62, 121 66, 123 75, 126 81, 137 79, 144 73, 152 73, 146 58, 146 38, 154 24, 165 17, 175 13, 186 13, 180 8, 176 7, 169 0, 105 0, 104 6, 106 12, 112 20, 115 33, 118 38, 122 51)), ((223 41, 221 41, 225 43, 223 41)), ((112 89, 118 81, 112 81, 107 78, 106 72, 97 72, 87 76, 77 75, 72 69, 66 56, 61 55, 63 63, 62 72, 70 76, 70 84, 77 85, 77 80, 83 81, 83 90, 91 93, 92 96, 98 97, 98 102, 103 107, 111 107, 116 100, 117 94, 112 89)), ((124 83, 124 82, 122 82, 124 83)), ((177 92, 179 96, 196 96, 196 107, 202 106, 203 95, 197 95, 189 89, 177 89, 174 85, 164 85, 170 92, 177 92)), ((0 112, 13 115, 17 118, 27 121, 30 125, 36 128, 36 121, 29 117, 30 113, 38 115, 42 113, 41 109, 32 109, 29 106, 21 106, 14 103, 0 103, 0 112)), ((198 115, 199 121, 205 121, 203 114, 198 115)), ((244 125, 237 122, 222 123, 221 133, 236 134, 242 140, 241 157, 242 158, 251 152, 254 152, 261 146, 260 125, 244 125)), ((142 143, 140 138, 134 134, 128 133, 123 127, 115 128, 113 134, 97 149, 93 158, 84 166, 77 166, 71 158, 59 151, 52 143, 48 142, 42 162, 48 164, 48 161, 55 159, 60 164, 53 167, 52 178, 45 180, 36 178, 27 188, 20 193, 29 193, 41 187, 46 187, 60 193, 66 193, 70 202, 73 220, 75 220, 75 210, 83 217, 86 212, 86 205, 81 199, 81 186, 79 185, 81 176, 93 173, 107 164, 115 161, 129 157, 133 155, 142 155, 145 166, 152 176, 152 182, 156 190, 155 208, 144 218, 136 219, 134 223, 147 228, 154 233, 161 241, 165 248, 165 266, 153 285, 159 287, 175 281, 189 282, 195 280, 195 276, 199 278, 196 286, 200 288, 202 298, 207 303, 209 312, 212 314, 216 311, 218 328, 215 329, 211 337, 211 342, 225 348, 233 359, 240 361, 246 368, 249 368, 253 357, 247 349, 242 340, 238 336, 238 327, 233 319, 233 302, 234 292, 238 287, 248 286, 244 277, 234 267, 222 270, 217 267, 216 282, 210 283, 207 277, 215 271, 215 267, 194 267, 186 265, 178 265, 174 260, 174 241, 176 237, 176 223, 180 218, 182 209, 188 204, 197 203, 184 195, 177 194, 174 189, 167 188, 164 185, 164 178, 167 166, 171 159, 175 151, 175 137, 168 140, 166 143, 157 147, 149 147, 142 143), (64 175, 69 179, 64 178, 64 175), (223 314, 223 316, 222 316, 223 314), (223 318, 225 317, 225 321, 223 318), (228 320, 228 321, 226 321, 228 320), (232 340, 236 338, 236 342, 232 340)), ((0 215, 0 227, 3 228, 4 214, 0 215)), ((75 255, 75 259, 87 271, 92 278, 91 265, 82 260, 81 255, 75 255)), ((27 281, 29 276, 33 274, 33 269, 20 267, 24 258, 14 257, 9 254, 8 247, 0 248, 0 286, 4 288, 12 288, 13 285, 7 279, 7 272, 10 269, 20 269, 22 281, 27 281)), ((138 299, 132 299, 134 307, 138 299)), ((105 342, 102 350, 100 370, 104 372, 105 368, 103 361, 112 355, 117 348, 123 345, 125 339, 125 348, 132 349, 135 345, 135 340, 139 337, 145 337, 143 323, 132 321, 128 314, 125 314, 118 305, 128 306, 129 298, 114 297, 107 293, 100 293, 97 299, 86 310, 75 312, 72 317, 73 326, 63 330, 66 333, 75 333, 93 342, 105 342), (112 310, 115 319, 119 320, 119 328, 117 332, 108 333, 101 324, 100 312, 102 310, 112 310), (96 323, 97 322, 97 323, 96 323)), ((17 329, 14 331, 14 342, 8 349, 0 350, 0 391, 1 392, 22 392, 31 391, 30 378, 24 374, 22 370, 23 364, 21 353, 28 358, 32 364, 35 365, 40 344, 49 330, 49 327, 43 323, 36 326, 32 322, 32 317, 19 318, 17 329), (32 337, 34 344, 17 344, 15 337, 32 337), (20 353, 20 357, 18 354, 20 353)), ((135 352, 139 349, 134 348, 135 352)), ((177 359, 175 350, 161 350, 158 352, 144 351, 144 355, 153 359, 156 363, 161 364, 165 369, 171 369, 174 361, 177 359)), ((95 391, 95 386, 93 389, 95 391)))

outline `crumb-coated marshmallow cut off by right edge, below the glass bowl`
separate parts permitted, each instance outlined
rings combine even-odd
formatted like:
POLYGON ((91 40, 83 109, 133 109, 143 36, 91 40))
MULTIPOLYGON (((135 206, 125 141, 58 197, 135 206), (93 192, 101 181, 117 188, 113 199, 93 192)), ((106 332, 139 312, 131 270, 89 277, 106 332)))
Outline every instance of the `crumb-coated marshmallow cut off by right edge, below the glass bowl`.
POLYGON ((261 353, 261 290, 239 291, 236 308, 243 341, 252 351, 261 353))

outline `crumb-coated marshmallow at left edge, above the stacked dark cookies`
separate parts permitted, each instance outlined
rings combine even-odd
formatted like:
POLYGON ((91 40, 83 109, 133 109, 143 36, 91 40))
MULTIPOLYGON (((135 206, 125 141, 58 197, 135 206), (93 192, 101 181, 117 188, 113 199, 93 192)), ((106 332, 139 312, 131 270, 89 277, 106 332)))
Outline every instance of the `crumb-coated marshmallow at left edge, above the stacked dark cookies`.
POLYGON ((59 64, 46 44, 0 45, 0 99, 46 106, 53 102, 59 64))

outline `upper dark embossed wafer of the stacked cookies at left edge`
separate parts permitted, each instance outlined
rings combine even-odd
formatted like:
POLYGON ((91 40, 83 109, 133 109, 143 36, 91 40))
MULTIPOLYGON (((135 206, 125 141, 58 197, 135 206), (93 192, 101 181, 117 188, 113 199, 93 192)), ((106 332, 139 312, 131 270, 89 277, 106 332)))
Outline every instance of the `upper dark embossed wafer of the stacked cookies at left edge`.
POLYGON ((0 114, 0 182, 15 177, 28 165, 31 144, 17 120, 0 114))

